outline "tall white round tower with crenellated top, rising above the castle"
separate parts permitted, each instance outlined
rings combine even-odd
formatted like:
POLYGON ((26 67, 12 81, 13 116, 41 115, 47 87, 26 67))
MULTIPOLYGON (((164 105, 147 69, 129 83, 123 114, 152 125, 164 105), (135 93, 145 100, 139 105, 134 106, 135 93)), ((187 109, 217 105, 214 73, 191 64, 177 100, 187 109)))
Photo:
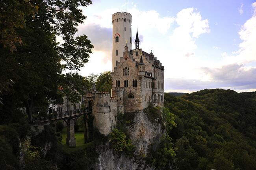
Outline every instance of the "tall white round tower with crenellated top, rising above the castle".
POLYGON ((112 15, 113 35, 112 35, 112 71, 120 61, 124 46, 128 50, 132 49, 132 15, 127 12, 117 12, 112 15))

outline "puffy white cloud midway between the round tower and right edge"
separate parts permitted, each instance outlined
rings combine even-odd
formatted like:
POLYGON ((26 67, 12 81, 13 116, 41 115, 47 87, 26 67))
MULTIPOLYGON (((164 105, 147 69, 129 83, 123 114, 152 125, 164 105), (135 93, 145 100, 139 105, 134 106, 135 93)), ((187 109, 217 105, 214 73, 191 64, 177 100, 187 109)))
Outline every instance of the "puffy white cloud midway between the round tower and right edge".
POLYGON ((202 20, 200 13, 196 11, 191 7, 178 12, 176 17, 178 27, 170 37, 171 44, 182 50, 184 54, 191 53, 197 48, 195 39, 199 35, 210 32, 208 19, 202 20))

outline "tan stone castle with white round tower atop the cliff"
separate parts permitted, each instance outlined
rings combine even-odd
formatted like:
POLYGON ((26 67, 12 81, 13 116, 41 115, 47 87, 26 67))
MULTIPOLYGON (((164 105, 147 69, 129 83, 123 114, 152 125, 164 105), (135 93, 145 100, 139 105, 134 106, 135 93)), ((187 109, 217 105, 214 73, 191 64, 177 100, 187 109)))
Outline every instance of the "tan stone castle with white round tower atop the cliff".
MULTIPOLYGON (((149 103, 164 105, 164 67, 152 52, 148 54, 139 48, 138 31, 132 49, 132 15, 114 13, 112 24, 112 94, 98 92, 95 85, 85 90, 82 102, 92 111, 85 120, 87 141, 93 140, 95 129, 108 135, 116 127, 118 114, 142 111, 149 103)), ((67 108, 65 100, 56 110, 78 109, 82 102, 67 108)))

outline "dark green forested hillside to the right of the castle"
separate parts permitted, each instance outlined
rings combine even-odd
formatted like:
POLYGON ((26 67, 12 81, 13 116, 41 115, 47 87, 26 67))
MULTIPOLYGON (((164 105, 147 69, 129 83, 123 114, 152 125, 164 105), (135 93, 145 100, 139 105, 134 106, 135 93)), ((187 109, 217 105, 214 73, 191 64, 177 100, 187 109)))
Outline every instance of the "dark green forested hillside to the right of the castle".
POLYGON ((177 124, 168 131, 176 153, 175 168, 256 169, 255 96, 255 92, 223 89, 182 97, 165 94, 165 107, 177 124))

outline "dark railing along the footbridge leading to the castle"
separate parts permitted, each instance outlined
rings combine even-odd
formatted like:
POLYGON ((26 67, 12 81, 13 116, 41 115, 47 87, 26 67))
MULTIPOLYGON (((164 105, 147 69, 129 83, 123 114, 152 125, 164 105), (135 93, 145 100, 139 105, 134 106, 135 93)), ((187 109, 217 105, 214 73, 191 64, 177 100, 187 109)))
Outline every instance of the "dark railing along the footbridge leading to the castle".
POLYGON ((83 109, 75 109, 70 111, 64 111, 64 112, 57 112, 48 114, 45 117, 39 117, 40 121, 46 121, 46 120, 55 120, 55 119, 61 119, 61 118, 68 118, 74 115, 82 115, 83 113, 90 112, 91 110, 88 107, 85 107, 83 109))

